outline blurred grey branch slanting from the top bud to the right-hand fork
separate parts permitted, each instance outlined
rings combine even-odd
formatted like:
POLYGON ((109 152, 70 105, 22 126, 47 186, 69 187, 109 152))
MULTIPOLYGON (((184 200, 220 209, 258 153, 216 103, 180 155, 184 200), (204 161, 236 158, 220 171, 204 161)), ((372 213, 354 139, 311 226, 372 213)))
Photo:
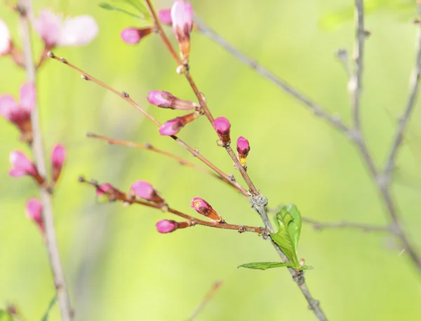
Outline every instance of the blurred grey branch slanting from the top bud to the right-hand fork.
POLYGON ((349 129, 344 123, 342 123, 342 121, 340 121, 340 119, 335 118, 334 116, 330 116, 326 111, 324 111, 316 103, 312 102, 312 100, 307 98, 303 93, 300 93, 299 90, 293 88, 293 86, 290 86, 282 78, 279 78, 279 76, 272 74, 270 71, 265 69, 265 67, 262 67, 262 65, 259 64, 256 60, 251 59, 241 53, 238 49, 223 39, 219 34, 216 34, 212 29, 210 29, 210 27, 208 27, 200 18, 195 16, 194 22, 196 22, 196 26, 198 27, 199 32, 205 36, 208 36, 208 38, 215 41, 215 43, 218 43, 218 45, 231 53, 234 57, 236 57, 236 59, 243 62, 243 64, 247 64, 248 67, 254 69, 256 72, 258 72, 258 74, 267 78, 267 80, 272 81, 272 83, 281 88, 283 91, 305 104, 307 107, 309 107, 310 110, 313 111, 315 116, 323 118, 324 120, 328 121, 330 125, 333 125, 334 128, 342 132, 348 132, 349 129))

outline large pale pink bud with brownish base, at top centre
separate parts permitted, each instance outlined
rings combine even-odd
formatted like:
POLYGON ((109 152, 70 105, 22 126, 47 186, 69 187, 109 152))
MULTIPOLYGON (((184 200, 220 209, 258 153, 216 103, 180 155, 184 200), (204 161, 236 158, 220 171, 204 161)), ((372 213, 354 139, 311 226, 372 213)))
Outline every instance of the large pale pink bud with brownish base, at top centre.
POLYGON ((189 58, 190 33, 193 27, 193 9, 189 2, 177 0, 171 7, 171 20, 175 37, 180 45, 180 55, 183 60, 189 58))

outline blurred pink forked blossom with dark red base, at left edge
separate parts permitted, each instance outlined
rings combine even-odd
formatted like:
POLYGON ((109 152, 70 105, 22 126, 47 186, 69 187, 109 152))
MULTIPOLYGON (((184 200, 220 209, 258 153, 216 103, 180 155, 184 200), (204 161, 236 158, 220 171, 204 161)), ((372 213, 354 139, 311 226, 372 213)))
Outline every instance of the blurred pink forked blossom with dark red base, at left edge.
POLYGON ((11 95, 0 96, 0 115, 19 128, 23 142, 32 142, 31 111, 35 102, 35 87, 29 82, 20 87, 20 102, 11 95))

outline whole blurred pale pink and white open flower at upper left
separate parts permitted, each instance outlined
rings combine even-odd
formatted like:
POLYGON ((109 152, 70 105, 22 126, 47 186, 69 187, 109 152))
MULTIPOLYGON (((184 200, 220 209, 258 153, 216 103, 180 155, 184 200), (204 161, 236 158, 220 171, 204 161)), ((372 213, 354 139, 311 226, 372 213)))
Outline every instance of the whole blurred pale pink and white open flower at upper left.
POLYGON ((62 15, 46 9, 40 11, 34 28, 49 49, 55 46, 83 46, 98 34, 98 25, 90 15, 63 20, 62 15))

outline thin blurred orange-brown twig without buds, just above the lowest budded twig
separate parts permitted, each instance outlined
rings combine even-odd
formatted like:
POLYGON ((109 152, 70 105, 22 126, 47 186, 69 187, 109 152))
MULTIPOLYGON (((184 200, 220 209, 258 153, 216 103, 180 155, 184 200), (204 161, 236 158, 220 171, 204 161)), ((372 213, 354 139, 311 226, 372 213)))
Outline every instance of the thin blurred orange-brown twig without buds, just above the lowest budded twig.
MULTIPOLYGON (((203 168, 200 165, 194 164, 192 162, 187 161, 184 158, 181 158, 180 156, 174 155, 173 153, 168 153, 168 151, 163 151, 162 149, 158 149, 155 146, 152 146, 151 144, 139 144, 135 142, 128 142, 126 140, 121 139, 114 139, 105 137, 102 135, 94 134, 93 132, 87 132, 86 137, 91 137, 99 140, 103 140, 111 145, 121 145, 121 146, 128 146, 128 147, 135 147, 138 149, 145 149, 147 151, 153 151, 154 153, 159 153, 163 156, 166 156, 168 158, 172 158, 173 160, 177 161, 180 165, 187 166, 189 168, 194 168, 195 170, 199 170, 201 172, 204 172, 210 176, 213 176, 215 178, 221 179, 222 182, 226 182, 222 177, 220 177, 218 174, 215 174, 215 172, 208 170, 207 168, 203 168)), ((232 186, 232 184, 229 184, 229 186, 232 186)), ((232 186, 235 188, 235 186, 232 186)))

